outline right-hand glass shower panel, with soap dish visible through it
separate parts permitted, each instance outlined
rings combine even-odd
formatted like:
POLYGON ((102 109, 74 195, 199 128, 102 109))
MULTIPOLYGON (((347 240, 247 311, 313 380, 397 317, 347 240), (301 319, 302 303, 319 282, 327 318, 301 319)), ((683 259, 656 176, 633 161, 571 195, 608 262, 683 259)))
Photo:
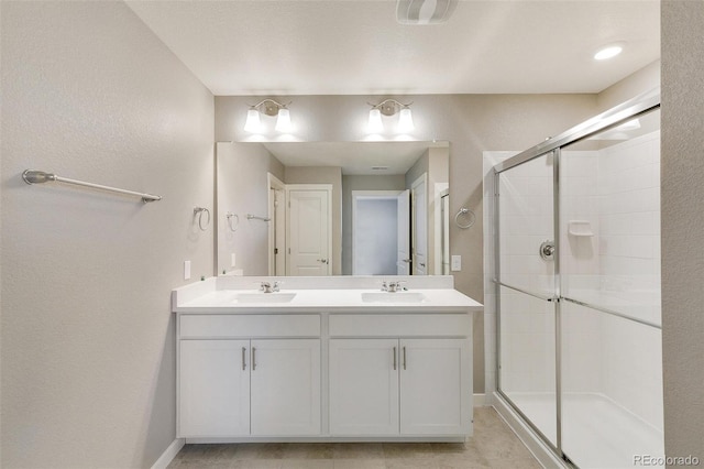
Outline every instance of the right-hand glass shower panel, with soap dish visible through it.
POLYGON ((580 468, 663 455, 660 111, 560 160, 562 451, 580 468))

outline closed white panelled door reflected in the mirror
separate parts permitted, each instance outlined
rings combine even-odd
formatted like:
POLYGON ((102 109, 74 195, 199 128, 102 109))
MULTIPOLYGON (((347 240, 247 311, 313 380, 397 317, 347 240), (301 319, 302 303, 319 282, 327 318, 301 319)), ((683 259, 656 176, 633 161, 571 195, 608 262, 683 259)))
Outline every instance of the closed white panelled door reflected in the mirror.
POLYGON ((288 275, 330 275, 332 273, 332 189, 287 188, 288 275))

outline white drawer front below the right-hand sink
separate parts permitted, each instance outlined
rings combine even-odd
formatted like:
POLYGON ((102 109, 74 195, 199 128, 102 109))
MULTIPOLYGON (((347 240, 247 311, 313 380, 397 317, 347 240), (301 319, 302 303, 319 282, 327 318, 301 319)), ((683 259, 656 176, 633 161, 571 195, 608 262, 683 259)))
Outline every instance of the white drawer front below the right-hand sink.
POLYGON ((330 337, 468 337, 470 321, 465 314, 330 315, 330 337))

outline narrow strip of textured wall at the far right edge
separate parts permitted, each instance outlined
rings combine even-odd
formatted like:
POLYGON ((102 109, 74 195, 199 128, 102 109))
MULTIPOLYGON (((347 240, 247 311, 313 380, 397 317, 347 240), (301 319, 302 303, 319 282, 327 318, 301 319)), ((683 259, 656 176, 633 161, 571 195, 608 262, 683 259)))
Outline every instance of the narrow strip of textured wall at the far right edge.
POLYGON ((666 454, 704 461, 704 1, 661 12, 666 454))

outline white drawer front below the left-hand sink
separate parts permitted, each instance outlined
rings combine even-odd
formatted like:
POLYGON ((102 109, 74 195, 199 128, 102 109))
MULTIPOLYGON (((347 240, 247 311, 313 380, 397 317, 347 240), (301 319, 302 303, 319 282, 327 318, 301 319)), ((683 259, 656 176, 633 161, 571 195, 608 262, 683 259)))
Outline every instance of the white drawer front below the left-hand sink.
POLYGON ((180 338, 320 337, 318 315, 180 316, 180 338))

